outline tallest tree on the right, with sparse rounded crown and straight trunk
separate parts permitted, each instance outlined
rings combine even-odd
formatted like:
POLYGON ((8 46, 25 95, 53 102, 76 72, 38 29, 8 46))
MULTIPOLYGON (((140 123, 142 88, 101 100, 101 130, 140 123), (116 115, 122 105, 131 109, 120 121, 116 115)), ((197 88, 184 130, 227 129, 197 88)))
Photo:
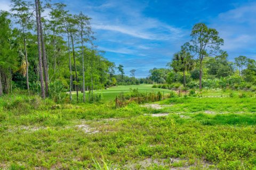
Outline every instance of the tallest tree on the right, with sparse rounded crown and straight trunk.
POLYGON ((191 50, 198 56, 199 60, 199 89, 202 89, 203 59, 205 56, 217 55, 220 46, 223 45, 223 39, 219 32, 213 28, 208 28, 204 23, 194 25, 191 32, 191 50))

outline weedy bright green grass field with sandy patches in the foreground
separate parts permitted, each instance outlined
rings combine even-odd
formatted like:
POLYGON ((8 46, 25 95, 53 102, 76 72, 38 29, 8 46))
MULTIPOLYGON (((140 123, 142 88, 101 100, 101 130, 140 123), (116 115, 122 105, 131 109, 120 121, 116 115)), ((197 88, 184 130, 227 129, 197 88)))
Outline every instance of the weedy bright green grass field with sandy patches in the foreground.
POLYGON ((120 109, 4 96, 0 169, 95 169, 102 159, 110 169, 256 169, 256 98, 230 92, 120 109))

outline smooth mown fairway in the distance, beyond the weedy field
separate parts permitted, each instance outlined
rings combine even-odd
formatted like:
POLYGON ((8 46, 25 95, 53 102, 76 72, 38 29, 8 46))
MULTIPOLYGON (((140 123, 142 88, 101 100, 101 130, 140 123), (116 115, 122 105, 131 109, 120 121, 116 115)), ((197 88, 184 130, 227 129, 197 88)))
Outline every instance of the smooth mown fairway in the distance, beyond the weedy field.
MULTIPOLYGON (((115 97, 120 94, 121 92, 129 92, 130 89, 137 89, 140 92, 166 92, 166 93, 170 93, 171 90, 168 89, 159 89, 159 88, 152 88, 153 84, 140 84, 140 85, 130 85, 130 86, 117 86, 117 87, 111 87, 109 89, 106 90, 95 90, 95 92, 101 92, 103 95, 103 100, 105 101, 109 101, 109 100, 114 100, 115 97)), ((76 97, 76 92, 73 91, 73 98, 76 97)), ((83 96, 83 94, 81 93, 81 91, 79 91, 79 98, 81 98, 83 96)), ((86 97, 88 97, 88 91, 86 92, 86 97)))

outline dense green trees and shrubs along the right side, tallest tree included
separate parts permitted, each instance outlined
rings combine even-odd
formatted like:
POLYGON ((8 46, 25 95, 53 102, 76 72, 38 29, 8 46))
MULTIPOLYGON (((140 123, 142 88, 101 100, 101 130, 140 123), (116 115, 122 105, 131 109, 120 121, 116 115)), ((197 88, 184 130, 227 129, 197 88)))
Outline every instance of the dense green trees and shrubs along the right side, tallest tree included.
POLYGON ((255 60, 238 56, 235 62, 228 61, 227 52, 220 48, 223 43, 217 30, 198 23, 191 31, 191 41, 181 46, 167 64, 170 69, 154 68, 149 79, 175 86, 182 83, 187 88, 254 88, 255 60))

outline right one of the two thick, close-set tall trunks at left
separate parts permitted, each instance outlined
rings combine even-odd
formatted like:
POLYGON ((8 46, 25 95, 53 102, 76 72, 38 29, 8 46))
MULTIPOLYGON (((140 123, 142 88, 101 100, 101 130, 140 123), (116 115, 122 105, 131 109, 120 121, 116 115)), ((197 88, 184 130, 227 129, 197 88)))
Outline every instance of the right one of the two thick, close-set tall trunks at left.
POLYGON ((45 81, 45 94, 49 96, 49 88, 48 88, 48 71, 47 71, 47 61, 46 61, 46 53, 45 53, 45 46, 44 46, 44 35, 43 35, 43 24, 41 21, 41 6, 38 0, 38 19, 40 24, 40 35, 41 35, 41 44, 42 44, 42 51, 43 51, 43 69, 44 69, 44 81, 45 81))

